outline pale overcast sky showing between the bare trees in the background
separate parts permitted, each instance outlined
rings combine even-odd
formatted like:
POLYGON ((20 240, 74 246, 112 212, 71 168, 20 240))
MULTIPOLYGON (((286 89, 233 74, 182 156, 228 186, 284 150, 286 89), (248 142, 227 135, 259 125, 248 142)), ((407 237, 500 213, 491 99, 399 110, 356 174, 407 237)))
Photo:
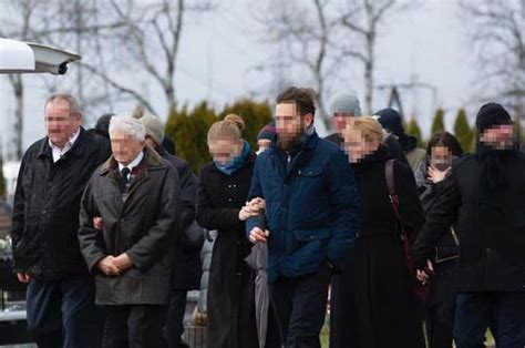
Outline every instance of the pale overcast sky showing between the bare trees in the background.
MULTIPOLYGON (((193 104, 208 99, 214 105, 222 106, 254 91, 267 96, 272 76, 269 72, 257 72, 253 68, 267 59, 275 48, 257 40, 250 14, 253 3, 224 0, 218 4, 219 9, 214 13, 186 21, 176 78, 179 103, 193 104)), ((377 84, 410 82, 415 78, 436 86, 436 105, 428 91, 402 95, 406 115, 416 112, 425 134, 435 106, 449 111, 446 122, 450 127, 459 108, 465 106, 472 119, 478 106, 473 94, 476 59, 463 25, 456 0, 425 0, 421 8, 385 22, 378 41, 377 84)), ((351 78, 333 88, 353 89, 363 98, 360 66, 348 64, 344 69, 351 78)), ((70 68, 72 71, 73 65, 70 68)), ((71 75, 56 79, 69 78, 71 75)), ((297 84, 307 81, 306 75, 292 78, 297 84)), ((146 78, 140 81, 141 86, 148 89, 150 99, 162 109, 158 91, 148 86, 146 78)), ((39 76, 27 75, 25 82, 24 145, 28 146, 44 134, 42 109, 47 95, 42 93, 39 76)), ((9 139, 7 120, 13 110, 6 76, 0 76, 0 126, 2 141, 6 142, 9 139)), ((378 93, 374 109, 384 108, 387 101, 387 95, 378 93)), ((133 106, 132 102, 122 103, 115 111, 126 112, 133 106)))

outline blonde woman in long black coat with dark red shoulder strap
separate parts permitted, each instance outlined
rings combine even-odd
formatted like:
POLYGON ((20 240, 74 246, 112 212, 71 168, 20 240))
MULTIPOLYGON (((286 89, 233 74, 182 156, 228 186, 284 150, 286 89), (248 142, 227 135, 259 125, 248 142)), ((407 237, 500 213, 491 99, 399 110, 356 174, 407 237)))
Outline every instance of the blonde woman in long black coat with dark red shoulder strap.
MULTIPOLYGON (((373 117, 344 132, 361 199, 361 228, 331 287, 331 348, 424 348, 414 276, 390 204, 385 164, 391 155, 373 117)), ((411 168, 393 163, 400 215, 410 240, 424 223, 411 168)))

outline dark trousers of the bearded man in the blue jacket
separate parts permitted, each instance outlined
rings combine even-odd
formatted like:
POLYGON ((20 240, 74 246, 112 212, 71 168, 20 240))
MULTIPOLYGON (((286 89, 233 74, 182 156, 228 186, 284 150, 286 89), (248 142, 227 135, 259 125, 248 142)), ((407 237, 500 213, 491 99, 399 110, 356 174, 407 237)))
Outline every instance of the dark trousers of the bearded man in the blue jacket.
POLYGON ((311 275, 280 277, 270 285, 270 300, 286 348, 320 348, 331 269, 327 265, 311 275))

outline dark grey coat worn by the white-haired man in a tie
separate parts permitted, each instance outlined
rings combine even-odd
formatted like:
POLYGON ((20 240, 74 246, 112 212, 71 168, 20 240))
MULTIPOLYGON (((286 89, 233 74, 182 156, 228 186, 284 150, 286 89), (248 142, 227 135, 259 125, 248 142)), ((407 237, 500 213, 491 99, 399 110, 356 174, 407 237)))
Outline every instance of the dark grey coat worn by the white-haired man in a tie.
POLYGON ((117 163, 110 157, 93 174, 82 197, 79 240, 95 276, 96 304, 164 305, 172 275, 171 246, 179 226, 178 174, 146 147, 125 202, 120 186, 117 163), (93 227, 95 216, 104 221, 102 231, 93 227), (132 259, 131 269, 106 276, 96 268, 105 256, 122 253, 132 259))

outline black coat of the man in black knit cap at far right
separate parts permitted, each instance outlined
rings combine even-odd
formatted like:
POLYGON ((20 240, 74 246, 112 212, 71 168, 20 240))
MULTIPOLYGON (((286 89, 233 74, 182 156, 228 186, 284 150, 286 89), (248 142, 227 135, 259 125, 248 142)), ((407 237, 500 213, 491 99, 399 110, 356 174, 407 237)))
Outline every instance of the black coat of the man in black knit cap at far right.
POLYGON ((414 264, 423 267, 457 217, 459 291, 525 290, 525 153, 515 151, 501 165, 507 186, 488 191, 480 184, 477 155, 455 161, 413 245, 414 264))

